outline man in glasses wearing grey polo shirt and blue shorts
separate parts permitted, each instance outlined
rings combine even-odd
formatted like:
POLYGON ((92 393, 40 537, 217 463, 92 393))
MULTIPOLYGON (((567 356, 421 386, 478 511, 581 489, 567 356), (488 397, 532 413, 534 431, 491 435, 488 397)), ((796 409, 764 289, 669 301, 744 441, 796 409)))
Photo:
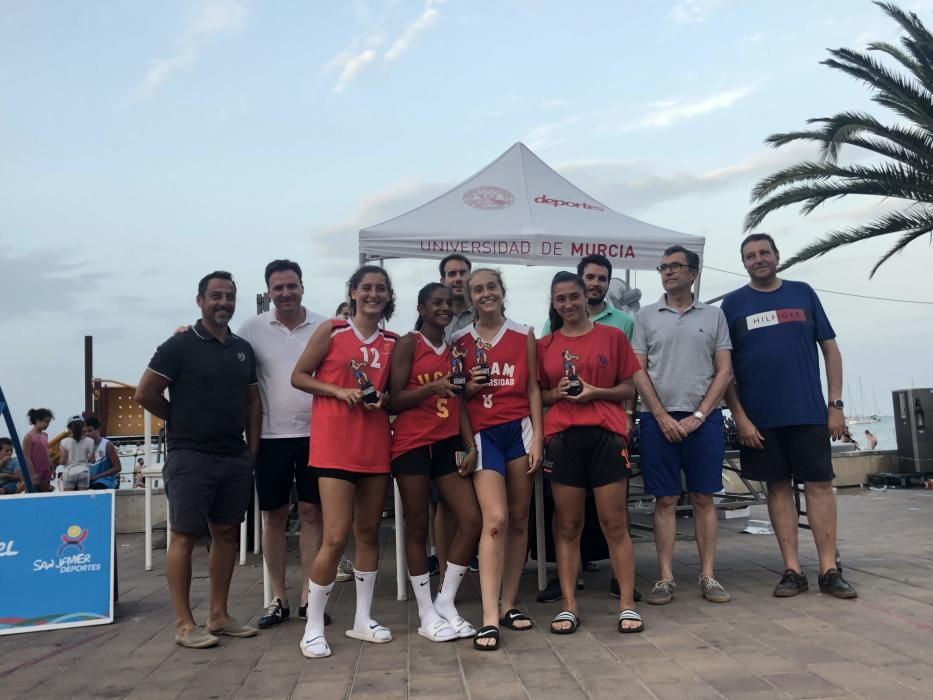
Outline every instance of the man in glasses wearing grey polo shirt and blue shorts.
POLYGON ((694 298, 700 257, 681 246, 664 251, 658 272, 664 296, 635 316, 632 349, 641 362, 635 386, 649 412, 641 414, 641 465, 645 491, 655 497, 654 535, 660 576, 646 600, 674 597, 675 506, 684 472, 693 504, 700 555, 700 590, 714 603, 729 594, 714 577, 716 511, 722 489, 725 440, 719 404, 732 379, 732 342, 726 318, 694 298))

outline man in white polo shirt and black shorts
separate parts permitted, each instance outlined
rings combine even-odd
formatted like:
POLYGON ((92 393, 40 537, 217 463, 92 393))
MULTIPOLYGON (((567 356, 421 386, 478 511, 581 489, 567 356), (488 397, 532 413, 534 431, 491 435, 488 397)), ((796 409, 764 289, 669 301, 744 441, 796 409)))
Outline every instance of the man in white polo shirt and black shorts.
POLYGON ((317 478, 308 467, 311 395, 292 387, 292 370, 324 317, 301 304, 301 267, 291 260, 266 265, 266 287, 273 309, 249 318, 239 335, 253 346, 262 396, 262 433, 256 457, 256 491, 262 511, 262 550, 272 585, 272 602, 259 618, 274 627, 291 610, 285 589, 285 528, 292 483, 298 492, 301 521, 301 586, 298 615, 308 596, 308 569, 321 546, 323 523, 317 478))

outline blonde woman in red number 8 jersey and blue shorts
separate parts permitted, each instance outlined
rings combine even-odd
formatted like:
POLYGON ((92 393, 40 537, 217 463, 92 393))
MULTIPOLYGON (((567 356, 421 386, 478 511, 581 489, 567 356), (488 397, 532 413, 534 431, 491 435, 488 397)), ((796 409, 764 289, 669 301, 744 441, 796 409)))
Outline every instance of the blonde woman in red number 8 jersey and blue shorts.
POLYGON ((534 333, 505 317, 505 287, 498 271, 473 270, 467 289, 476 321, 455 333, 453 342, 466 353, 471 376, 467 411, 478 450, 473 485, 483 514, 483 627, 473 646, 494 651, 499 648, 498 625, 531 629, 531 618, 515 607, 515 600, 527 558, 532 474, 541 466, 544 432, 534 333))

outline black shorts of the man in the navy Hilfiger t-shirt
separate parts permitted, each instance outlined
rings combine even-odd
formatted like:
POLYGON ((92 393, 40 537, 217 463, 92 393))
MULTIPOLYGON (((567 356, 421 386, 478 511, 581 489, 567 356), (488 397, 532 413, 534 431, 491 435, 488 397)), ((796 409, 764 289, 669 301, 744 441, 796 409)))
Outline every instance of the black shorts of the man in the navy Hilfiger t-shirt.
POLYGON ((832 481, 832 447, 826 426, 759 428, 764 449, 741 445, 742 476, 753 481, 832 481))

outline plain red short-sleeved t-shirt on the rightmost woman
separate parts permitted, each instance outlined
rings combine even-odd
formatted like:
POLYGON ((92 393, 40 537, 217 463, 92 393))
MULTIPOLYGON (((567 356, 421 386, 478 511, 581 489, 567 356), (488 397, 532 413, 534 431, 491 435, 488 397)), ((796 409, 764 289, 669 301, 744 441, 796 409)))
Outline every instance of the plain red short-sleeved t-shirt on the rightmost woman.
MULTIPOLYGON (((641 369, 625 333, 595 324, 585 335, 571 338, 559 330, 538 340, 538 377, 542 389, 553 389, 572 363, 587 384, 608 389, 641 369)), ((562 399, 544 414, 544 437, 573 426, 595 425, 626 435, 625 410, 613 401, 574 403, 562 399)))

